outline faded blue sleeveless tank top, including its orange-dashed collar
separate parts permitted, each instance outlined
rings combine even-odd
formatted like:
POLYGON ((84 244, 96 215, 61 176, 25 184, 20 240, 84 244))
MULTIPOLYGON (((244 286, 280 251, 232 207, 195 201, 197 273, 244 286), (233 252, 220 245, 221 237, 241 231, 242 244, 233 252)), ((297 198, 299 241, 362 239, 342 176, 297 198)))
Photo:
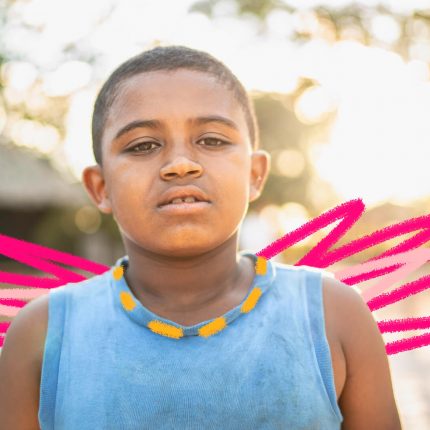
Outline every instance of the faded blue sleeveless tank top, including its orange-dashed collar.
POLYGON ((322 272, 240 254, 246 297, 193 326, 138 301, 127 256, 51 290, 41 430, 340 429, 322 272))

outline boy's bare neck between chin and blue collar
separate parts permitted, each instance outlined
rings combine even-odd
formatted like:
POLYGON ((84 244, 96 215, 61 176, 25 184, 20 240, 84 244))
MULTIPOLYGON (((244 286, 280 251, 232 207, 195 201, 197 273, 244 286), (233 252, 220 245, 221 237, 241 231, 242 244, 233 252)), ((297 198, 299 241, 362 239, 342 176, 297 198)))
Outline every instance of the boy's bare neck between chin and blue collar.
POLYGON ((225 245, 181 260, 129 249, 125 279, 136 298, 163 318, 182 325, 216 318, 242 302, 255 274, 236 242, 225 245))

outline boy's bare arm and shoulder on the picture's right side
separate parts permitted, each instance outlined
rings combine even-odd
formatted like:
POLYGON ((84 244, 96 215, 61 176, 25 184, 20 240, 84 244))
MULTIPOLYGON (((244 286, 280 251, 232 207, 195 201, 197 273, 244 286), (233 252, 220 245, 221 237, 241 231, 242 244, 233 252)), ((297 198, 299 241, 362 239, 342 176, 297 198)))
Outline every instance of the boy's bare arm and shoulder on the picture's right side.
POLYGON ((369 307, 351 286, 334 278, 324 282, 346 360, 342 430, 401 430, 384 340, 369 307))

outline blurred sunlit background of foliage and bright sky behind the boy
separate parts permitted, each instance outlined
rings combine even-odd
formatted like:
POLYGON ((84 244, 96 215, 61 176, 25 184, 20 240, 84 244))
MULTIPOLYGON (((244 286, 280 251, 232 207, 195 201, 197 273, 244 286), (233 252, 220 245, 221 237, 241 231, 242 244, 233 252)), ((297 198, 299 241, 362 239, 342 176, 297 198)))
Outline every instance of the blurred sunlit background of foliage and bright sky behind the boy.
MULTIPOLYGON (((92 107, 121 62, 168 44, 213 54, 254 99, 272 169, 241 249, 259 251, 352 198, 366 212, 340 244, 430 213, 430 1, 0 0, 0 233, 106 265, 124 254, 80 182, 95 163, 92 107)), ((321 234, 274 260, 294 264, 321 234)), ((0 270, 35 272, 1 255, 0 270)), ((429 308, 422 292, 374 316, 429 308)), ((430 428, 429 350, 389 357, 406 429, 430 428)))

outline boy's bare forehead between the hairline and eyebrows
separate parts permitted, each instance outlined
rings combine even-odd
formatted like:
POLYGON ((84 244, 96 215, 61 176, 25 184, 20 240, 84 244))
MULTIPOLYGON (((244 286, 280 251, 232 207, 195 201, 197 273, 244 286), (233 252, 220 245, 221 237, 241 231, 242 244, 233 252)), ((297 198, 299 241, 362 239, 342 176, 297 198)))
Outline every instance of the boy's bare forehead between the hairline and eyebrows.
POLYGON ((186 69, 141 73, 118 89, 105 124, 105 137, 112 140, 116 130, 131 121, 183 121, 202 116, 225 117, 247 133, 242 106, 216 77, 186 69))

